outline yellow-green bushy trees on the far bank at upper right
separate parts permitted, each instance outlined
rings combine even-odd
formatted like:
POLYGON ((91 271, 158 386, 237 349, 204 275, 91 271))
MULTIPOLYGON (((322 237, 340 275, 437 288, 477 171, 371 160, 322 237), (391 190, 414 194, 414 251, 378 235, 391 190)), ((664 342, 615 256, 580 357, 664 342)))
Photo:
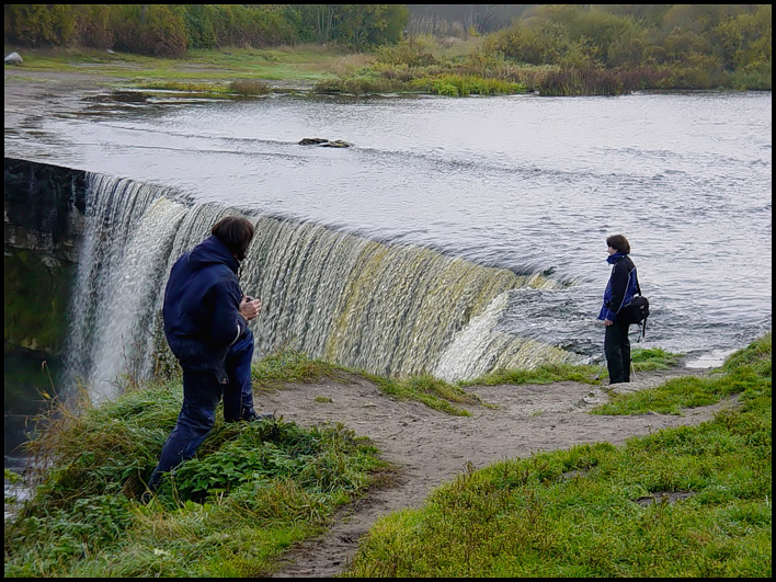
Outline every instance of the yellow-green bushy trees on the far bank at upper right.
POLYGON ((769 89, 771 43, 771 4, 536 4, 484 48, 567 69, 682 70, 688 87, 735 72, 769 89))

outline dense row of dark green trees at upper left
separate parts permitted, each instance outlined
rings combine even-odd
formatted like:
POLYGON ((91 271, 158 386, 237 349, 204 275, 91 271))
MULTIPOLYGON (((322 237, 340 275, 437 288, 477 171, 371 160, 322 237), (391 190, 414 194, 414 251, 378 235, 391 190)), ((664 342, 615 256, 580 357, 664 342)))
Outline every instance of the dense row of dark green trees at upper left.
POLYGON ((190 48, 396 43, 406 4, 5 4, 5 42, 81 45, 158 57, 190 48))

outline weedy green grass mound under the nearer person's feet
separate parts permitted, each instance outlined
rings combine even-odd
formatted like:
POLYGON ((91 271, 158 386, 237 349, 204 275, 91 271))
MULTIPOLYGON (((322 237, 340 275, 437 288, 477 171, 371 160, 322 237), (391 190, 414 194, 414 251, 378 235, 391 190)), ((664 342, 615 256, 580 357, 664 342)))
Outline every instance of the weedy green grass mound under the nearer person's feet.
POLYGON ((5 524, 7 578, 264 575, 385 472, 377 450, 341 425, 219 416, 197 456, 141 505, 181 398, 171 383, 50 416, 33 443, 50 468, 5 524))

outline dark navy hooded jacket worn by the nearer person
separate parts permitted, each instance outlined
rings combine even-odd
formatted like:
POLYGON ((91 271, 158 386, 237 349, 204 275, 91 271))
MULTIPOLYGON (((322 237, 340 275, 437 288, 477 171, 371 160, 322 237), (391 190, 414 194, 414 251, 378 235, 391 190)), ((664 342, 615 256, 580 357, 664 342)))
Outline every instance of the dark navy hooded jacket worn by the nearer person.
POLYGON ((239 266, 215 236, 173 265, 164 290, 164 335, 183 369, 222 373, 229 346, 248 329, 239 312, 239 266))

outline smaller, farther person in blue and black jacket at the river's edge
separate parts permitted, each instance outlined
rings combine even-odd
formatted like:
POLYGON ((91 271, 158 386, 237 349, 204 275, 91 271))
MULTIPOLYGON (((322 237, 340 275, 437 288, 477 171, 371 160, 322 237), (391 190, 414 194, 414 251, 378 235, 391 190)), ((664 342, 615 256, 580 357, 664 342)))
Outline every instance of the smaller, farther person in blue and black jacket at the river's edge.
POLYGON ((606 239, 609 256, 606 261, 613 265, 612 275, 604 290, 604 305, 598 319, 606 326, 604 353, 609 370, 609 384, 630 381, 630 324, 623 321, 618 313, 627 306, 639 288, 636 265, 630 260, 630 243, 623 235, 613 235, 606 239))

